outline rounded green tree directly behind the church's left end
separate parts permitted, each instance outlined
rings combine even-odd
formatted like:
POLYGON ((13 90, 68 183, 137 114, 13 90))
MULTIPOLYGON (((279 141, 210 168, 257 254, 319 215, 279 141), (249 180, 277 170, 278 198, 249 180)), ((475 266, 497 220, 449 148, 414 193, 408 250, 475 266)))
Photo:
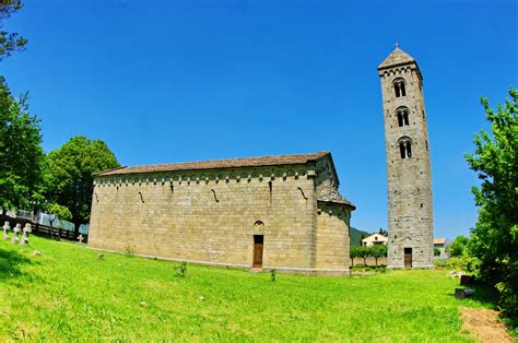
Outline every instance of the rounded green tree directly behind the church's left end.
POLYGON ((67 208, 79 226, 90 218, 93 192, 93 174, 119 166, 106 143, 78 135, 47 156, 48 200, 67 208))

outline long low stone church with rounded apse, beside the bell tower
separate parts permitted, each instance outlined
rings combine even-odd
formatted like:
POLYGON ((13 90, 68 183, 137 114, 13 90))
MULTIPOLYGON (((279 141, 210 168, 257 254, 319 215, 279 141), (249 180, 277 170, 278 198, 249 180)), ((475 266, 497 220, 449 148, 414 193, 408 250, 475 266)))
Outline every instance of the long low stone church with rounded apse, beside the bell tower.
POLYGON ((348 275, 355 208, 329 152, 95 175, 89 247, 192 263, 348 275))

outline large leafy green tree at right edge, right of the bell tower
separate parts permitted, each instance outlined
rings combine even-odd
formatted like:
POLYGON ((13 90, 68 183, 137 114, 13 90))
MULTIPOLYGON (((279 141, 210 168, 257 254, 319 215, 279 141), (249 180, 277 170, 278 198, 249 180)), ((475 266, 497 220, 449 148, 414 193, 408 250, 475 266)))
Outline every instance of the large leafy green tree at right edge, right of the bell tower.
POLYGON ((518 90, 496 111, 482 98, 491 134, 474 137, 475 150, 467 154, 470 168, 478 173, 473 187, 479 218, 471 230, 469 253, 480 260, 480 276, 496 286, 501 306, 518 317, 518 90))

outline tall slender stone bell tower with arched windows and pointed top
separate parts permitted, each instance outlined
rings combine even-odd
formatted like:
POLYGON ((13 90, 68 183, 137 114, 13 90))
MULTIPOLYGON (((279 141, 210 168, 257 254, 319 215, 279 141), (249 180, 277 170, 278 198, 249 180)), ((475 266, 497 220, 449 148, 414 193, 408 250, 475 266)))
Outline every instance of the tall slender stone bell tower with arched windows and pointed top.
POLYGON ((433 268, 433 204, 423 78, 396 48, 378 67, 388 180, 388 267, 433 268))

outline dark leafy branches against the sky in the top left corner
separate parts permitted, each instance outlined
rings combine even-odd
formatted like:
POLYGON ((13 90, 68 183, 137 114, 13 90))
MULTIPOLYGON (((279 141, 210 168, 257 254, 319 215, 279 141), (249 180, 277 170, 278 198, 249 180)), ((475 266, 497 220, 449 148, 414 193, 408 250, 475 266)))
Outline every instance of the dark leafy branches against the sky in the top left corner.
POLYGON ((0 61, 14 51, 23 50, 27 44, 27 39, 19 36, 17 33, 9 33, 2 29, 3 21, 22 7, 21 0, 2 0, 0 3, 0 61))

